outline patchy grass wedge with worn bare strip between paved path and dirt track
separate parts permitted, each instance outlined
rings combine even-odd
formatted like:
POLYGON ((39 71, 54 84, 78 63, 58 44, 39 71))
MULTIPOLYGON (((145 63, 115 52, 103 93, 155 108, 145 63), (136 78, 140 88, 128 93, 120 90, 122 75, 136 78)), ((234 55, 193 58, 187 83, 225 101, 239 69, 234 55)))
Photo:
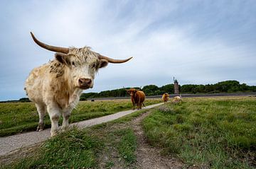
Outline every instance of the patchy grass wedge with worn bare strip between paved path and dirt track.
POLYGON ((71 129, 0 168, 127 168, 135 163, 137 148, 136 136, 127 122, 144 112, 83 130, 71 129), (100 160, 101 156, 107 160, 100 160))

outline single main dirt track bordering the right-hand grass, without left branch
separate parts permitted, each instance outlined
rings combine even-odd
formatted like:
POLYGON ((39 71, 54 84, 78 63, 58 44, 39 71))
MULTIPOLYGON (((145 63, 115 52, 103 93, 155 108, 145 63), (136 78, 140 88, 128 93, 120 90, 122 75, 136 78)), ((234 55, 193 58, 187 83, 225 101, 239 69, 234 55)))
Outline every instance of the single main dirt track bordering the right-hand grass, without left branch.
POLYGON ((149 146, 142 129, 142 120, 150 112, 144 113, 132 121, 132 128, 137 136, 137 166, 142 169, 165 169, 165 168, 182 168, 183 164, 171 156, 161 156, 158 148, 149 146))

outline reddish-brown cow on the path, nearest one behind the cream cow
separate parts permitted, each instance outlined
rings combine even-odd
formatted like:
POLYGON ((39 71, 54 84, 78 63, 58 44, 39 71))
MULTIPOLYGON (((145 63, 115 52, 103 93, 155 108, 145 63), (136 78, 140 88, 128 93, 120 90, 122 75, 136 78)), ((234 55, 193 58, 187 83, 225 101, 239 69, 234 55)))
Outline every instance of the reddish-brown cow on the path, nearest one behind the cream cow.
POLYGON ((133 110, 135 109, 135 104, 137 105, 138 109, 142 109, 142 105, 144 105, 144 100, 146 98, 146 95, 143 91, 139 91, 135 88, 130 88, 129 90, 126 90, 129 95, 131 95, 133 110))

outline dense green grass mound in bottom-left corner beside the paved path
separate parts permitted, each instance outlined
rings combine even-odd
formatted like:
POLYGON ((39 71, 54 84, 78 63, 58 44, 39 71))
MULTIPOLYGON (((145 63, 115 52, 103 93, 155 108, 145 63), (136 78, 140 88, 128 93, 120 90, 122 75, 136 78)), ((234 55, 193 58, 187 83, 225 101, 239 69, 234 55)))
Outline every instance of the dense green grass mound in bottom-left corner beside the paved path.
POLYGON ((32 154, 1 168, 95 168, 104 146, 85 130, 72 129, 46 141, 32 154))

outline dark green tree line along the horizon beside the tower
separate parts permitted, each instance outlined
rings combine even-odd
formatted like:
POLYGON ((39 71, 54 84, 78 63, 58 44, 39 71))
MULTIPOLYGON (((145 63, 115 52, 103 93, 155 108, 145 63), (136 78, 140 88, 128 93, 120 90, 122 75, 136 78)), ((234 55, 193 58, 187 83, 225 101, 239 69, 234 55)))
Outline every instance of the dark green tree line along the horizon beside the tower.
MULTIPOLYGON (((233 93, 233 92, 256 92, 256 86, 247 86, 247 84, 240 84, 239 81, 221 81, 215 84, 196 85, 185 84, 178 86, 181 93, 233 93)), ((156 85, 147 85, 143 88, 135 87, 144 91, 146 95, 162 95, 163 93, 174 93, 174 84, 166 84, 158 87, 156 85)), ((110 97, 125 97, 128 96, 125 89, 119 88, 111 91, 101 91, 100 93, 82 93, 80 100, 87 98, 110 98, 110 97)))

